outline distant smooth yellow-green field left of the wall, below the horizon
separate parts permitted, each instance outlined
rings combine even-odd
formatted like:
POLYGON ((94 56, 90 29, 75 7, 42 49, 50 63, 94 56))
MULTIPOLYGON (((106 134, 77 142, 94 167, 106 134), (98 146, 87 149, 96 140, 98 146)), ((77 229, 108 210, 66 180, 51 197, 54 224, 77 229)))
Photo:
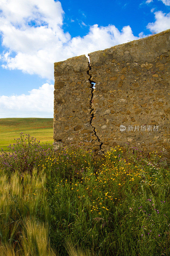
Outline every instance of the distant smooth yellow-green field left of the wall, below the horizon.
POLYGON ((53 143, 53 118, 0 118, 0 149, 15 143, 19 133, 30 134, 42 142, 53 143))

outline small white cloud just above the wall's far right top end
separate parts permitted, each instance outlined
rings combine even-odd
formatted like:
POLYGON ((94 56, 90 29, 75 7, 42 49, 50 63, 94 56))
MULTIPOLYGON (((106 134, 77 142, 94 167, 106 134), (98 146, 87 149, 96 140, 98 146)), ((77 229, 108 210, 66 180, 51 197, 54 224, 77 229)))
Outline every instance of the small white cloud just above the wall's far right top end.
POLYGON ((170 13, 163 13, 162 11, 155 12, 155 22, 148 23, 147 28, 151 32, 161 32, 170 28, 170 13))

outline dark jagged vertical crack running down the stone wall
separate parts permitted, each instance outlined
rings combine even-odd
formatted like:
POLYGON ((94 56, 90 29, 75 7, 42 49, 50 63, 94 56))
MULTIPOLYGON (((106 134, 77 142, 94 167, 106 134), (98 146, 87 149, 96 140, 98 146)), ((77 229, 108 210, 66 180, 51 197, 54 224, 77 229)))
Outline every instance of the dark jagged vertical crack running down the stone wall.
MULTIPOLYGON (((91 68, 91 66, 90 66, 90 62, 89 62, 89 70, 91 70, 92 68, 91 68)), ((87 71, 87 74, 90 76, 90 78, 88 79, 89 80, 89 82, 90 82, 90 84, 92 85, 92 96, 91 96, 91 99, 90 99, 90 108, 91 108, 91 111, 90 111, 90 115, 91 115, 91 120, 90 120, 90 124, 91 124, 91 126, 92 126, 92 119, 93 119, 93 117, 94 117, 94 113, 93 113, 93 111, 94 111, 94 109, 92 108, 92 99, 93 99, 93 91, 94 91, 94 88, 93 88, 93 83, 96 83, 96 82, 94 82, 94 81, 92 81, 91 80, 91 75, 89 74, 89 70, 87 71)), ((100 142, 100 145, 99 145, 99 148, 100 148, 100 151, 98 152, 98 154, 99 155, 104 155, 104 151, 102 151, 101 150, 101 146, 103 145, 103 142, 101 142, 100 141, 100 139, 99 139, 99 137, 97 136, 97 134, 96 134, 96 131, 95 131, 95 127, 94 126, 92 126, 93 127, 93 131, 94 131, 94 135, 97 137, 97 139, 98 139, 98 142, 100 142)))

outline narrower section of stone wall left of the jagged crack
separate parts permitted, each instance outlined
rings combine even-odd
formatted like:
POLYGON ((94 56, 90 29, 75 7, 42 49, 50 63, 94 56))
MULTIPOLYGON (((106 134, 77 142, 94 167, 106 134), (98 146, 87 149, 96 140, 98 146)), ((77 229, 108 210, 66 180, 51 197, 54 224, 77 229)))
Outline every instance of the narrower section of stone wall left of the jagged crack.
MULTIPOLYGON (((97 137, 91 122, 92 84, 88 59, 85 55, 54 64, 54 146, 81 144, 100 150, 94 145, 97 137), (57 75, 56 75, 57 74, 57 75), (91 139, 96 138, 95 140, 91 139)), ((98 140, 98 139, 97 139, 98 140)))

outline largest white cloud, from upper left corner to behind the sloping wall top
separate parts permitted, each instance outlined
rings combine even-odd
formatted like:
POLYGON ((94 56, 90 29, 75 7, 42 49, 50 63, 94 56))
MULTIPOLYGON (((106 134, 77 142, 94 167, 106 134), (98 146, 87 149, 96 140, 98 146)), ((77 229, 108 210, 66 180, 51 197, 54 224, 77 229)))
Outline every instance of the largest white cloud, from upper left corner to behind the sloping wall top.
POLYGON ((86 36, 71 38, 62 29, 61 3, 53 0, 1 0, 0 10, 0 31, 8 49, 1 54, 3 67, 43 78, 54 78, 56 61, 137 39, 129 26, 120 32, 114 25, 94 25, 86 36))

